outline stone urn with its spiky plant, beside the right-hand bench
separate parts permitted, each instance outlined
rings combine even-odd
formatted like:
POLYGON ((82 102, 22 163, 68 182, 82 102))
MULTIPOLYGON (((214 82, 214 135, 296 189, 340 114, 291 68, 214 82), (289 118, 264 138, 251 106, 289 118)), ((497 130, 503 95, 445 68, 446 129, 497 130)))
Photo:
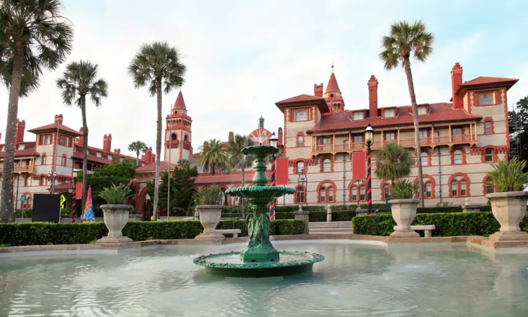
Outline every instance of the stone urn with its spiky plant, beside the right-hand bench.
POLYGON ((391 237, 419 237, 420 235, 411 229, 411 223, 416 217, 416 209, 420 203, 414 199, 418 192, 418 184, 409 180, 397 180, 392 185, 391 205, 392 218, 397 224, 396 230, 391 237))

